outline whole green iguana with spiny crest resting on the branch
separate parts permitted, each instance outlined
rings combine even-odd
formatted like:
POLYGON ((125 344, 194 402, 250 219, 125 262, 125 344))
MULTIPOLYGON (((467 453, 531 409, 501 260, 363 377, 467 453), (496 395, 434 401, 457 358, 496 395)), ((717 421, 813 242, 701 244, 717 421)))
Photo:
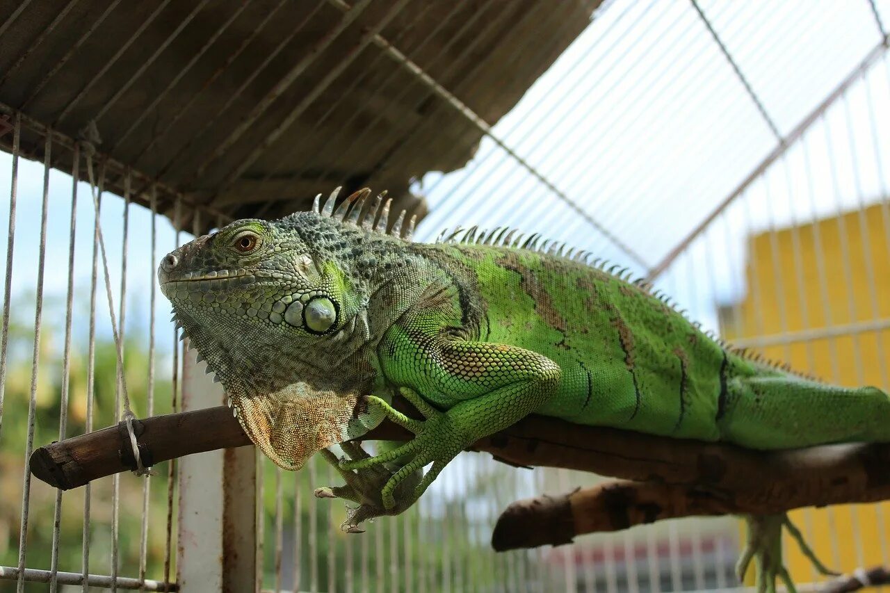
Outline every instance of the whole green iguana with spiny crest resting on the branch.
MULTIPOLYGON (((890 441, 890 397, 877 388, 750 357, 645 282, 537 234, 473 227, 411 243, 413 220, 402 232, 403 212, 387 233, 390 202, 366 204, 369 194, 336 211, 335 191, 311 212, 236 221, 158 270, 256 446, 279 467, 323 451, 340 470, 346 485, 316 495, 360 503, 345 531, 408 508, 457 453, 532 412, 760 450, 890 441), (424 420, 390 406, 397 391, 424 420), (413 440, 375 457, 344 443, 384 418, 413 440), (336 443, 352 459, 326 451, 336 443)), ((740 573, 753 556, 760 589, 791 587, 787 518, 748 524, 740 573)))

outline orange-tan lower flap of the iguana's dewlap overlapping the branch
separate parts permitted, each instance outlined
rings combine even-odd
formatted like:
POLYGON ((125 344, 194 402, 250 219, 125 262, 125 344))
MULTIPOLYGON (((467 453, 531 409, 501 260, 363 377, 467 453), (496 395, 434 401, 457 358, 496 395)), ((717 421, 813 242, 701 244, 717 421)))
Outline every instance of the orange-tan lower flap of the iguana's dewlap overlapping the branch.
POLYGON ((304 383, 267 395, 235 397, 241 426, 275 465, 296 470, 347 437, 357 394, 316 391, 304 383))

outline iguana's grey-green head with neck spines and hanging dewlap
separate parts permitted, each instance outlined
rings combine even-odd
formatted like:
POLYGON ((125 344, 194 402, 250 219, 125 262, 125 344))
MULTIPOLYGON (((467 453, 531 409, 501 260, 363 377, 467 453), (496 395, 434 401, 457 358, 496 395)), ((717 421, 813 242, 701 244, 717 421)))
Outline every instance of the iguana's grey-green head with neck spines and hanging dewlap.
POLYGON ((369 193, 337 212, 335 191, 324 209, 316 198, 311 212, 236 221, 158 268, 177 325, 223 382, 247 435, 281 467, 301 467, 380 421, 363 411, 363 395, 389 315, 369 321, 368 306, 404 241, 384 232, 382 196, 371 222, 360 220, 369 193))

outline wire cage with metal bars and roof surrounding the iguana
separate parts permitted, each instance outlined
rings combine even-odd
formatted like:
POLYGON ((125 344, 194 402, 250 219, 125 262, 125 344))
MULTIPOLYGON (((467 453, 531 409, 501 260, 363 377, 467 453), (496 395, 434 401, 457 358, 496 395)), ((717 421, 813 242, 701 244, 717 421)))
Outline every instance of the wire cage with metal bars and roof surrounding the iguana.
MULTIPOLYGON (((27 461, 115 424, 125 395, 141 416, 221 404, 166 320, 158 257, 337 184, 390 188, 417 240, 564 240, 734 344, 890 388, 888 21, 886 0, 0 2, 0 591, 751 584, 732 517, 496 554, 509 502, 601 478, 476 453, 360 536, 312 497, 336 483, 318 459, 213 451, 66 492, 27 461)), ((793 515, 852 572, 890 565, 888 514, 793 515)))

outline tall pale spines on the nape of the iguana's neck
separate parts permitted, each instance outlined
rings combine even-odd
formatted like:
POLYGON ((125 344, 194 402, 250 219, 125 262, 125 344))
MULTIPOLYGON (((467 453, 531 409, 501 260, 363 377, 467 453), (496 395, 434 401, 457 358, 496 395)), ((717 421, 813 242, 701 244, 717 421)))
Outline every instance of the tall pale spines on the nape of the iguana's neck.
POLYGON ((389 232, 386 227, 389 223, 390 206, 392 198, 386 198, 386 191, 377 194, 374 202, 368 199, 371 195, 370 189, 362 188, 352 193, 336 204, 337 196, 343 187, 337 187, 331 191, 328 199, 325 200, 324 206, 321 205, 321 194, 315 196, 312 202, 312 212, 326 218, 332 218, 340 223, 349 224, 368 232, 376 232, 381 235, 395 237, 397 239, 410 241, 414 234, 414 227, 417 224, 417 215, 412 215, 408 223, 405 224, 405 217, 408 215, 407 210, 402 210, 389 232))

